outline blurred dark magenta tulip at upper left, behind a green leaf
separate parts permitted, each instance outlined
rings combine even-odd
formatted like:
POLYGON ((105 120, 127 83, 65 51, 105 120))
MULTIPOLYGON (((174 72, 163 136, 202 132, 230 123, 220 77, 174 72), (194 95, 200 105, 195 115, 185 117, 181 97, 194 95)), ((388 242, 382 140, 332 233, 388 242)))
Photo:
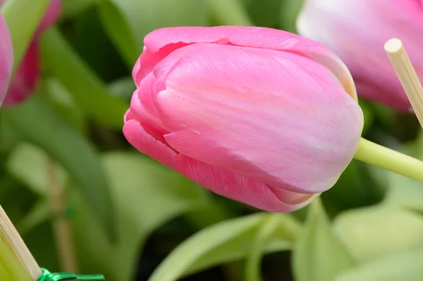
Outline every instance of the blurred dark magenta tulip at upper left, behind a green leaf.
MULTIPOLYGON (((5 0, 0 0, 0 5, 4 2, 5 0)), ((28 46, 27 52, 12 79, 6 99, 4 100, 5 106, 20 104, 35 90, 40 72, 38 37, 59 18, 60 9, 61 0, 51 0, 47 12, 35 32, 35 37, 32 39, 30 46, 28 46)))

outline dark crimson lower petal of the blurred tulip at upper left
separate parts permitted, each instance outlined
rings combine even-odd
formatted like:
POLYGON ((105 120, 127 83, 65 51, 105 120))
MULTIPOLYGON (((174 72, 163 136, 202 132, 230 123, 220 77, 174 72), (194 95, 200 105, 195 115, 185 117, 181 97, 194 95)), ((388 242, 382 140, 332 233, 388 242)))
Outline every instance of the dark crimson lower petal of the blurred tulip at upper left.
POLYGON ((20 63, 16 75, 13 77, 8 89, 4 104, 13 106, 24 101, 30 96, 37 86, 39 78, 39 58, 37 42, 30 44, 23 61, 20 63))

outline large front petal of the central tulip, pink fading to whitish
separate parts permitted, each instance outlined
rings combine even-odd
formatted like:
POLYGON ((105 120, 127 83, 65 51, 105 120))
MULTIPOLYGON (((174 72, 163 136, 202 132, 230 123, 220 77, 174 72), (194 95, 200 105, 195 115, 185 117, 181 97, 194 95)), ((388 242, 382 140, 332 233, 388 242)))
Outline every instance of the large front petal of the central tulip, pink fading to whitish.
POLYGON ((357 102, 316 61, 238 46, 181 58, 157 104, 176 151, 299 193, 338 180, 363 123, 357 102))

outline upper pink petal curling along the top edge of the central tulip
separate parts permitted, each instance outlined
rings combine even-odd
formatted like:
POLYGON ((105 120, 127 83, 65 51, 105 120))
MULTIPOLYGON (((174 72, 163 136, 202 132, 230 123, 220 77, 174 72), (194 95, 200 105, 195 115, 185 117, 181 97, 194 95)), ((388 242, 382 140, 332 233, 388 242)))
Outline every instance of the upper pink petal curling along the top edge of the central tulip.
POLYGON ((219 43, 250 46, 261 49, 293 51, 324 63, 338 77, 345 90, 356 99, 355 87, 343 62, 320 44, 282 30, 265 27, 168 27, 155 30, 145 37, 145 53, 137 66, 135 81, 145 77, 154 65, 171 51, 192 43, 219 43))

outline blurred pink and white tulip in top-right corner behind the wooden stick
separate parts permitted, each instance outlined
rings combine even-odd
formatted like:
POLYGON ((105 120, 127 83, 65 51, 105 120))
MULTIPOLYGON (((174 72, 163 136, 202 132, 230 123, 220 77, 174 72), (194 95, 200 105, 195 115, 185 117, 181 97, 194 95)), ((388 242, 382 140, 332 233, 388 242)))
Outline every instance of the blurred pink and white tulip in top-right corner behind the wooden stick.
POLYGON ((384 51, 401 39, 423 80, 423 1, 305 0, 300 35, 335 51, 353 74, 357 93, 407 110, 410 102, 384 51))

